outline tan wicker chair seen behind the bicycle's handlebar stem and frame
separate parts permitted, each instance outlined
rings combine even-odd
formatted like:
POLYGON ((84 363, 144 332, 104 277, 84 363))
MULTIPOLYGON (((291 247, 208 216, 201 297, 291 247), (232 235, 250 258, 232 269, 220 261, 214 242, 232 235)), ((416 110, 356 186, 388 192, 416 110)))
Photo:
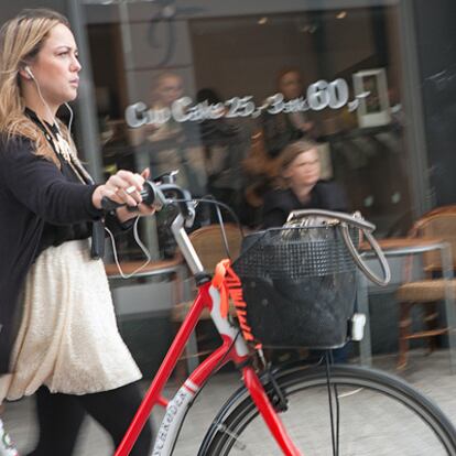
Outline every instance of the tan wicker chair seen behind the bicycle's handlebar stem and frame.
MULTIPOLYGON (((228 241, 230 258, 235 260, 240 252, 242 241, 241 232, 239 228, 234 224, 226 224, 225 232, 228 241)), ((196 252, 198 253, 203 267, 207 272, 213 273, 217 263, 224 258, 228 257, 219 225, 209 225, 198 228, 189 235, 189 239, 196 252)), ((176 325, 180 325, 187 315, 192 304, 193 300, 176 304, 171 311, 172 322, 174 322, 176 325)), ((230 305, 229 312, 231 316, 236 316, 236 310, 234 306, 230 305)), ((207 308, 203 311, 200 319, 210 319, 210 314, 207 308)), ((195 367, 195 362, 192 362, 189 360, 191 358, 197 358, 200 355, 205 355, 205 351, 200 351, 198 349, 198 343, 202 343, 205 339, 207 339, 207 337, 202 334, 198 335, 196 339, 194 338, 193 340, 189 340, 185 354, 188 370, 192 370, 192 367, 195 367)))

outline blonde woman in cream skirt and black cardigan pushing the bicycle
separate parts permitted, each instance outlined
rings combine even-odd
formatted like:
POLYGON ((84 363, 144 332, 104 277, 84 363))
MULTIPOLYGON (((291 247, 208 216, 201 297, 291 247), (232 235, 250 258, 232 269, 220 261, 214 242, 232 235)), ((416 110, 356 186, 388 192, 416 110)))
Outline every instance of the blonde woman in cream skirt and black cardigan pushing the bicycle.
MULTIPOLYGON (((32 455, 70 455, 88 412, 121 441, 141 402, 141 372, 122 341, 97 239, 152 214, 142 175, 95 184, 59 106, 76 98, 82 66, 63 15, 25 10, 0 32, 0 403, 36 392, 32 455), (101 210, 109 197, 133 206, 101 210)), ((102 239, 101 239, 102 242, 102 239)), ((151 430, 133 452, 148 455, 151 430)))

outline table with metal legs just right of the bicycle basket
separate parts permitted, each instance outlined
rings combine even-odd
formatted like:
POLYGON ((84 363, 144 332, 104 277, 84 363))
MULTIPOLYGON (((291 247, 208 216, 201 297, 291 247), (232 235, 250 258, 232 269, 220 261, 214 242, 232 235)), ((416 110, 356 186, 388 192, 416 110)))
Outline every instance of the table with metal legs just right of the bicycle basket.
MULTIPOLYGON (((453 279, 453 260, 452 260, 452 248, 448 242, 442 239, 433 238, 391 238, 378 240, 386 258, 402 257, 409 254, 422 254, 430 251, 438 250, 442 259, 442 275, 446 280, 453 279)), ((374 258, 370 246, 362 245, 361 252, 363 259, 374 258)), ((400 283, 400 282, 397 282, 400 283)), ((357 306, 358 312, 366 315, 365 336, 359 344, 360 362, 363 366, 370 367, 372 365, 372 352, 371 352, 371 336, 370 336, 370 321, 369 321, 369 292, 368 292, 368 280, 359 271, 357 280, 357 306)), ((395 286, 398 287, 398 286, 395 286)), ((391 290, 391 286, 388 287, 391 290)), ((449 286, 445 291, 445 314, 447 319, 448 332, 448 345, 450 355, 452 372, 456 372, 456 308, 455 308, 455 296, 453 296, 449 286)))

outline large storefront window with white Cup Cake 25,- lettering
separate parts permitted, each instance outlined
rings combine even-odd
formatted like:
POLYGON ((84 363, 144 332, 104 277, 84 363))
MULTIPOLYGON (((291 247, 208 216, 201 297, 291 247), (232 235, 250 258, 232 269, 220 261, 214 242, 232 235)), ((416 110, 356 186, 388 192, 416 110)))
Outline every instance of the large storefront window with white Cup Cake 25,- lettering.
MULTIPOLYGON (((252 3, 263 12, 86 4, 105 172, 178 169, 194 196, 214 195, 256 228, 283 148, 310 138, 349 209, 379 236, 403 232, 412 205, 397 7, 252 3)), ((198 224, 211 220, 203 209, 198 224)), ((161 254, 172 254, 160 226, 161 254)))

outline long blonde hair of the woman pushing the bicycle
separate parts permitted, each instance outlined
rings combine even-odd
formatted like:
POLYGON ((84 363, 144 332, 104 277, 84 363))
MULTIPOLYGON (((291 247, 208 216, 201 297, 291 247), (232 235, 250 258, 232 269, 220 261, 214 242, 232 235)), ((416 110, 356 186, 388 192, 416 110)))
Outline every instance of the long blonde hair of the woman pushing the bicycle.
MULTIPOLYGON (((35 153, 59 165, 43 132, 25 116, 19 72, 33 63, 51 30, 68 20, 48 9, 28 9, 9 20, 0 30, 0 133, 10 139, 25 137, 35 144, 35 153)), ((58 122, 68 143, 68 130, 58 122)))

